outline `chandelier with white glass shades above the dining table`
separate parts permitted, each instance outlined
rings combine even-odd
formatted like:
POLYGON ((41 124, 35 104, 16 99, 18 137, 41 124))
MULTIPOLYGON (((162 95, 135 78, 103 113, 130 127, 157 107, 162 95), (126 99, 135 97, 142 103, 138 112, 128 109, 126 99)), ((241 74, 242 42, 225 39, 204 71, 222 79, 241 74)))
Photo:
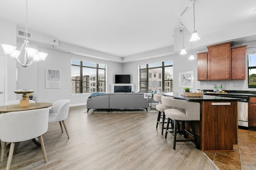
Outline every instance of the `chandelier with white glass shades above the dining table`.
POLYGON ((37 49, 33 49, 30 47, 28 43, 28 0, 26 0, 26 33, 25 33, 26 39, 24 40, 24 43, 20 47, 19 50, 16 50, 17 47, 14 47, 12 45, 6 45, 6 44, 1 44, 4 53, 7 56, 10 56, 12 59, 15 59, 21 66, 27 67, 29 65, 32 65, 34 63, 38 63, 39 61, 44 61, 46 56, 48 55, 47 53, 43 52, 38 52, 37 49), (24 50, 24 63, 20 62, 20 53, 22 50, 24 50))

